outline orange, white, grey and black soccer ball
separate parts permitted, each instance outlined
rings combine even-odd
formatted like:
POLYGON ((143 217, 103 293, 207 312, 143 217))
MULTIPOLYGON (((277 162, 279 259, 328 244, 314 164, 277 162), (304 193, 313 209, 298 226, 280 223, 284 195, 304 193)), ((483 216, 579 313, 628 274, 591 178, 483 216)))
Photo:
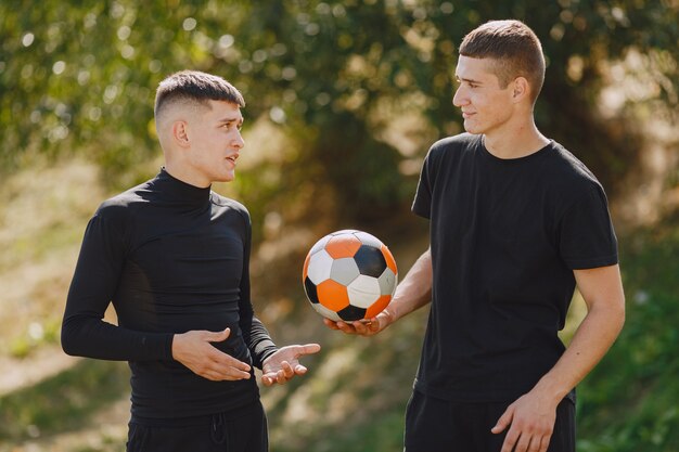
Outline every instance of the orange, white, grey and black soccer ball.
POLYGON ((356 230, 325 235, 311 247, 302 270, 307 298, 334 322, 371 319, 392 301, 398 270, 389 249, 356 230))

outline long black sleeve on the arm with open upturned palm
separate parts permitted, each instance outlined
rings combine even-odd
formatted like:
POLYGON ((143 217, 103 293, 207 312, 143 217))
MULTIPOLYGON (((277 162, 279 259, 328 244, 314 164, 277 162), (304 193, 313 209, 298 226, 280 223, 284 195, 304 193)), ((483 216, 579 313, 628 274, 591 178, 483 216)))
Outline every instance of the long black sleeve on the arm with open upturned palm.
POLYGON ((262 362, 274 353, 278 348, 271 340, 269 332, 255 317, 249 297, 249 254, 252 244, 252 225, 246 218, 246 240, 243 253, 243 273, 241 276, 241 297, 239 301, 240 327, 243 339, 253 357, 253 364, 261 369, 262 362))

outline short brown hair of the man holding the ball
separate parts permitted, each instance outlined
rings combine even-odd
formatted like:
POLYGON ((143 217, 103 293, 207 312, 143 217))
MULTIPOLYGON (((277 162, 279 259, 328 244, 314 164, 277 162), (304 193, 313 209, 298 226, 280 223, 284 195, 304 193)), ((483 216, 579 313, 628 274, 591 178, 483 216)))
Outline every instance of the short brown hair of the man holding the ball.
POLYGON ((530 85, 535 103, 545 81, 545 55, 536 34, 521 21, 490 21, 470 31, 460 46, 460 55, 496 60, 500 87, 516 77, 530 85))

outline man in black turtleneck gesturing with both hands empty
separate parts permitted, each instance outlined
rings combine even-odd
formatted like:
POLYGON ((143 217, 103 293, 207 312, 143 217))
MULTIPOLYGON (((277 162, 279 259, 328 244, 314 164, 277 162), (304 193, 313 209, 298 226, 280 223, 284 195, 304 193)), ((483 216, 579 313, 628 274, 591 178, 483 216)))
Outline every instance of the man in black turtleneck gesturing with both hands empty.
POLYGON ((278 348, 249 297, 251 220, 210 191, 235 177, 245 142, 241 93, 195 70, 158 86, 165 167, 105 201, 73 277, 62 345, 68 354, 128 361, 129 452, 265 452, 265 385, 306 367, 318 344, 278 348), (102 319, 113 302, 118 325, 102 319))

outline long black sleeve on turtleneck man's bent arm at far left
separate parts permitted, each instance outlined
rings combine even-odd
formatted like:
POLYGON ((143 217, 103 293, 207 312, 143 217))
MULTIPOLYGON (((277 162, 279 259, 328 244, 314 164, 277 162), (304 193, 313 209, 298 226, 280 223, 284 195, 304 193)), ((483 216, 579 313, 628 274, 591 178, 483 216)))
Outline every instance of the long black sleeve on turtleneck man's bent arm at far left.
POLYGON ((102 216, 87 225, 68 290, 62 347, 72 356, 115 361, 171 359, 171 334, 142 333, 103 320, 126 255, 121 234, 102 216))

